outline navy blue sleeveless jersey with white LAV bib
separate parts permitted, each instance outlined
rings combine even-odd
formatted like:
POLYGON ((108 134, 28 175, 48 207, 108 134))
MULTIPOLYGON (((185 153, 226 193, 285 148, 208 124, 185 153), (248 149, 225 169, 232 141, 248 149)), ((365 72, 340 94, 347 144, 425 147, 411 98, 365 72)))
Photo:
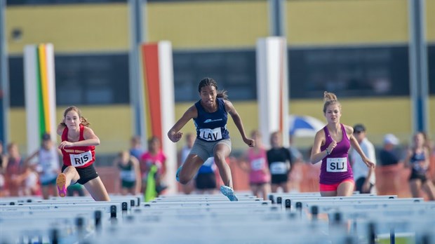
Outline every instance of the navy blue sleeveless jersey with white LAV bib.
POLYGON ((222 139, 229 139, 227 130, 228 114, 225 109, 225 101, 216 98, 217 110, 208 113, 201 105, 201 100, 195 102, 198 116, 194 118, 196 127, 196 138, 206 142, 215 142, 222 139))

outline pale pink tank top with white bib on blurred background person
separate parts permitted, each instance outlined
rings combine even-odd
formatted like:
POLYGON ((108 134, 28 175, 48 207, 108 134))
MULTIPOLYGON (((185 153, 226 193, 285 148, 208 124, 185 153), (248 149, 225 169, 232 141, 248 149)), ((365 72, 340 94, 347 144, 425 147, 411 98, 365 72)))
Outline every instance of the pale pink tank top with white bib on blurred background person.
POLYGON ((267 156, 265 149, 256 151, 253 148, 248 149, 248 159, 250 165, 249 182, 251 184, 262 184, 270 181, 269 173, 265 172, 267 169, 267 156))

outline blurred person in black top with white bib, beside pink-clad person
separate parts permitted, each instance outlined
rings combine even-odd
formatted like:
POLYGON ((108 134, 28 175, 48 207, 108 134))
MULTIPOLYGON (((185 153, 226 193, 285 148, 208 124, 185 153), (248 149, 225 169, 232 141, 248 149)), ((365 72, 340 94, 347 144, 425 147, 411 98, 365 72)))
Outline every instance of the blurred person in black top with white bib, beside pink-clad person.
POLYGON ((266 153, 267 163, 272 178, 272 192, 276 193, 279 188, 288 192, 288 175, 291 171, 290 151, 283 147, 281 132, 276 131, 270 135, 272 146, 266 153))

